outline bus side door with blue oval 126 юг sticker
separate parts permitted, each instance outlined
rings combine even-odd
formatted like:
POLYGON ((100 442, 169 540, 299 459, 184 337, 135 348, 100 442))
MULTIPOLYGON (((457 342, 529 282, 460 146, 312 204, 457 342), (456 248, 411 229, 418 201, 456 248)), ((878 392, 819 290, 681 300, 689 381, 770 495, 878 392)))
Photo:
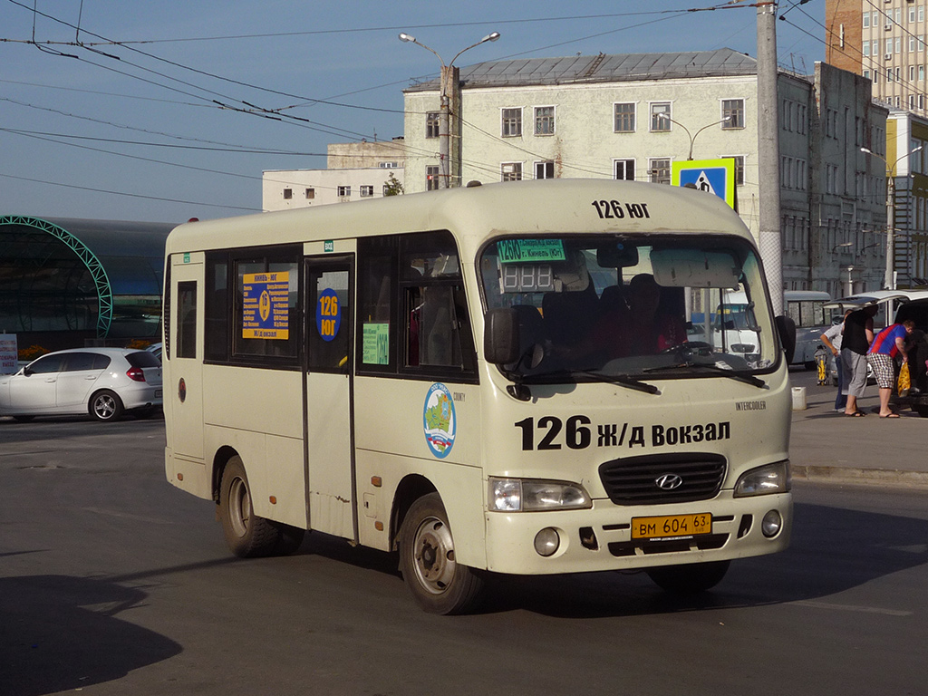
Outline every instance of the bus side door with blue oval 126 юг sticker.
POLYGON ((310 529, 357 538, 354 256, 306 259, 304 447, 310 529))

